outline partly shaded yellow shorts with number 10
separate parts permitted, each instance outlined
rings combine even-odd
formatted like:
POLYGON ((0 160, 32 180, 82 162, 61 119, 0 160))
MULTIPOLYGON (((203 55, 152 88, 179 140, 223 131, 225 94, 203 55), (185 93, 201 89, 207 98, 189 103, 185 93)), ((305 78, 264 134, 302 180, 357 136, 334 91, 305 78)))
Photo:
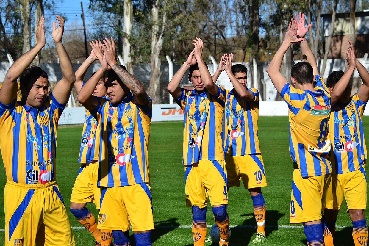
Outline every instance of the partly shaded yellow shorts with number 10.
POLYGON ((263 158, 258 155, 225 155, 228 187, 244 182, 245 189, 267 186, 263 158))

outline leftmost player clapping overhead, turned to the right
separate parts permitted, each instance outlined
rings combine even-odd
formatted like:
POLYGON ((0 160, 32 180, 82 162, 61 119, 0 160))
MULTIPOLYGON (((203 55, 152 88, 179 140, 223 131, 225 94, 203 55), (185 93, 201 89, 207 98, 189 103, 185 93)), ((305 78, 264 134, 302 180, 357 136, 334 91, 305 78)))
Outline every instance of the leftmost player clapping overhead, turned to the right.
POLYGON ((68 102, 75 72, 62 44, 64 19, 56 15, 52 39, 63 78, 47 96, 48 75, 30 66, 45 46, 44 16, 36 45, 9 68, 0 90, 0 148, 7 183, 4 190, 5 245, 75 245, 63 198, 56 184, 59 117, 68 102), (20 77, 21 101, 16 101, 20 77))

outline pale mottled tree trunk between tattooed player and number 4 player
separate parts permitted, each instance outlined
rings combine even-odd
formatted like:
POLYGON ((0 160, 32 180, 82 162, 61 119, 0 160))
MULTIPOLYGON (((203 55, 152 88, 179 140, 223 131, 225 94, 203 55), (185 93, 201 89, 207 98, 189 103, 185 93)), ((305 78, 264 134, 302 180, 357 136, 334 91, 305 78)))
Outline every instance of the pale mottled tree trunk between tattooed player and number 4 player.
MULTIPOLYGON (((166 0, 163 6, 166 5, 166 0)), ((161 76, 161 60, 160 52, 163 48, 163 32, 166 22, 166 11, 163 11, 161 20, 159 21, 159 8, 161 6, 161 1, 155 1, 151 14, 152 14, 152 32, 151 32, 151 77, 150 77, 150 87, 149 94, 152 99, 153 104, 161 103, 160 101, 160 76, 161 76)))

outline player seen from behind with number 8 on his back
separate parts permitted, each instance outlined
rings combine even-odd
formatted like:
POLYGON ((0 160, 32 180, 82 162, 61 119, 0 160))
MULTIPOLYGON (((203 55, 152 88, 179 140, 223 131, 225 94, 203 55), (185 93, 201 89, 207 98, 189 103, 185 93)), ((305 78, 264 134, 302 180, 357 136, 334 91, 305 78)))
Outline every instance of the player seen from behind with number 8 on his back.
POLYGON ((332 171, 328 157, 331 142, 327 135, 331 98, 304 38, 311 25, 305 27, 304 15, 302 18, 299 15, 299 23, 296 15, 296 20, 289 23, 284 41, 266 71, 289 107, 290 155, 294 167, 290 223, 303 223, 308 245, 324 245, 321 198, 325 176, 332 171), (296 42, 300 42, 305 61, 292 67, 290 85, 280 67, 287 49, 296 42))

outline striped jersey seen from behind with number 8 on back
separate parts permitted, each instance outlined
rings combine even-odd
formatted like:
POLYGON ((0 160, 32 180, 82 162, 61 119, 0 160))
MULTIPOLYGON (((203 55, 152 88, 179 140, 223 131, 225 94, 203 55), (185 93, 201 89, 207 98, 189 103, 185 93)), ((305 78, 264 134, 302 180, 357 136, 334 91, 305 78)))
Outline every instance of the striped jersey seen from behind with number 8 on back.
POLYGON ((289 108, 291 159, 297 163, 303 177, 332 171, 328 139, 331 96, 321 77, 315 76, 315 83, 317 92, 299 90, 289 84, 280 92, 289 108))

